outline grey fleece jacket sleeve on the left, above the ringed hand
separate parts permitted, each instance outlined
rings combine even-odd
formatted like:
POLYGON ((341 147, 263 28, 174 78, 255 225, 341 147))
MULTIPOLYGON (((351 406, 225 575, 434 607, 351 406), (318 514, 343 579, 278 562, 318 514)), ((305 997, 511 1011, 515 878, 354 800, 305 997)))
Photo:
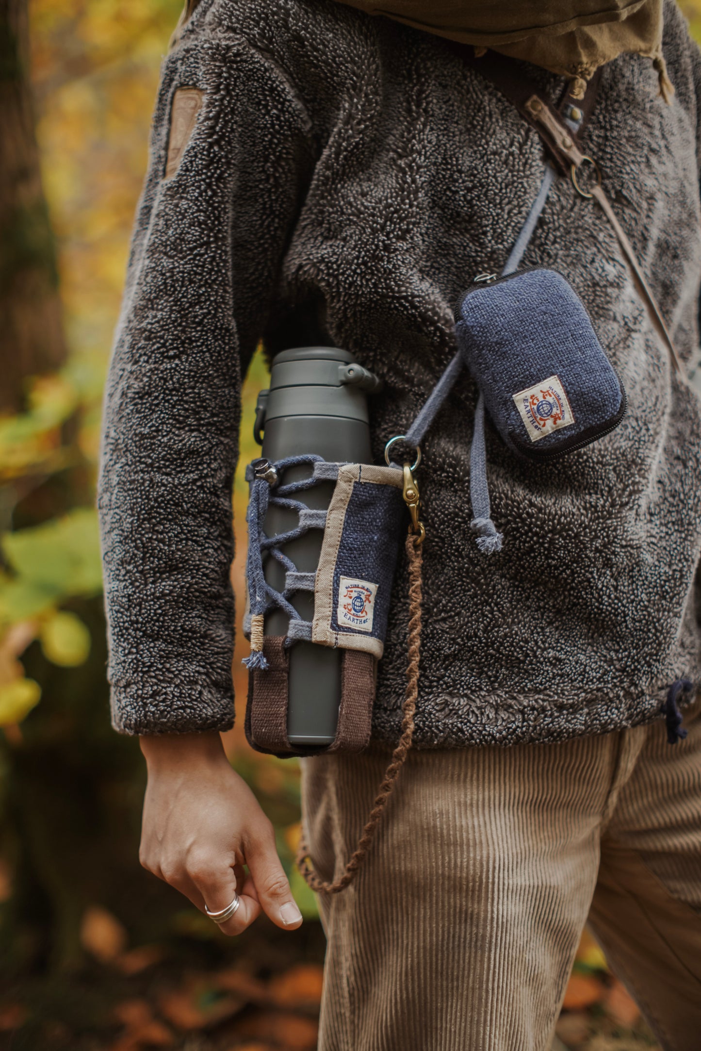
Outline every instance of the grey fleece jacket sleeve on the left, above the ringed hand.
POLYGON ((112 721, 123 733, 233 723, 241 376, 310 178, 308 125, 285 71, 242 37, 190 32, 165 60, 98 487, 112 721), (180 89, 190 90, 177 121, 180 89))

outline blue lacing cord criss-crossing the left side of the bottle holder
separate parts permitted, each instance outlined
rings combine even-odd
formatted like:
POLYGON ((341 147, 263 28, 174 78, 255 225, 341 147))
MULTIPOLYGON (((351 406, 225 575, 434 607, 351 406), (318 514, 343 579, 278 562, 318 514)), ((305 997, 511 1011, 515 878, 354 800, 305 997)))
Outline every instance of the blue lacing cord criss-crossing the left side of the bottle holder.
MULTIPOLYGON (((313 465, 323 460, 322 456, 309 454, 308 456, 288 456, 286 459, 277 460, 272 466, 282 475, 290 467, 298 465, 313 465)), ((251 468, 246 469, 246 478, 250 482, 250 496, 248 500, 248 511, 246 521, 248 523, 248 553, 246 555, 246 579, 248 581, 248 598, 251 613, 251 652, 244 658, 243 663, 249 671, 260 668, 266 671, 268 661, 263 653, 263 620, 270 610, 277 607, 282 610, 290 620, 302 620, 302 617, 289 601, 293 591, 285 589, 276 591, 265 579, 263 566, 264 552, 272 556, 284 566, 287 572, 295 572, 294 562, 283 554, 280 550, 282 544, 289 543, 304 536, 312 528, 310 526, 297 526, 288 530, 287 533, 280 533, 277 536, 266 535, 263 523, 270 506, 284 508, 287 511, 295 511, 297 514, 307 510, 307 506, 300 500, 290 499, 293 493, 300 493, 306 489, 311 489, 318 485, 312 475, 311 478, 304 478, 301 481, 288 482, 271 489, 265 478, 256 477, 251 468), (255 619, 254 619, 255 618, 255 619)))

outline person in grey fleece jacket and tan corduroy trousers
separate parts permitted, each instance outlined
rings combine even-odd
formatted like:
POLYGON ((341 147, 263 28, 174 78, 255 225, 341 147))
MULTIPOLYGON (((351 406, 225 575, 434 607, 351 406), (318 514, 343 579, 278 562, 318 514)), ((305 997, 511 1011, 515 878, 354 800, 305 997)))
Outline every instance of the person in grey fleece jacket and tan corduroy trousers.
MULTIPOLYGON (((227 934, 262 910, 302 922, 220 738, 242 377, 261 339, 268 354, 337 346, 384 379, 377 460, 416 416, 454 354, 458 294, 503 266, 545 163, 461 51, 507 54, 554 101, 602 66, 585 152, 689 370, 698 355, 701 58, 672 0, 383 11, 190 0, 163 65, 107 384, 109 678, 115 726, 140 736, 148 766, 141 860, 200 909, 238 894, 227 934)), ((489 556, 469 530, 468 374, 424 441, 416 747, 357 879, 319 897, 323 1051, 544 1051, 587 914, 662 1047, 698 1048, 701 406, 604 214, 564 178, 523 265, 578 292, 627 414, 545 468, 488 427, 503 533, 489 556), (671 747, 661 713, 683 680, 687 733, 671 747)), ((371 747, 303 761, 326 879, 398 737, 405 589, 400 570, 371 747)))

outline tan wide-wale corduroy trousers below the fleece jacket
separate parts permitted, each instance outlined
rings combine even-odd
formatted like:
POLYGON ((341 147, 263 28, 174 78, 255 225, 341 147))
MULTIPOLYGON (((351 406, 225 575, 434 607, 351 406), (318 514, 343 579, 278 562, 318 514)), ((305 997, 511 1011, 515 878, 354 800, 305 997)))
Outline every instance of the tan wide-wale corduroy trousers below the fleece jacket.
MULTIPOLYGON (((701 705, 553 745, 412 751, 355 882, 321 895, 318 1051, 545 1051, 587 918, 665 1051, 701 1049, 701 705)), ((303 761, 325 879, 384 749, 303 761)))

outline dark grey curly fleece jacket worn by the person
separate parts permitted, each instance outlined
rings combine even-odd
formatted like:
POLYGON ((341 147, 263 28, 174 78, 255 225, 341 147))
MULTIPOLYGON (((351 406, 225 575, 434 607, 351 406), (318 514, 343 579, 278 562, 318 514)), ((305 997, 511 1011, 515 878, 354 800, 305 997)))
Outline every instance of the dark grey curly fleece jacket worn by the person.
MULTIPOLYGON (((658 97, 650 61, 604 70, 586 151, 603 171, 685 360, 699 344, 701 60, 674 3, 658 97)), ((553 99, 558 78, 524 66, 553 99)), ((498 270, 543 176, 536 133, 437 37, 331 0, 203 0, 167 56, 106 392, 99 507, 114 720, 126 733, 233 721, 231 482, 242 377, 322 342, 385 379, 374 453, 455 352, 453 306, 498 270), (165 178, 179 87, 203 94, 165 178)), ((469 530, 475 387, 424 442, 428 539, 416 743, 560 741, 659 717, 698 679, 701 408, 667 355, 600 210, 565 180, 524 265, 587 306, 628 412, 543 467, 488 433, 503 549, 469 530)), ((400 564, 374 710, 398 736, 400 564)), ((663 727, 660 727, 663 733, 663 727)))

